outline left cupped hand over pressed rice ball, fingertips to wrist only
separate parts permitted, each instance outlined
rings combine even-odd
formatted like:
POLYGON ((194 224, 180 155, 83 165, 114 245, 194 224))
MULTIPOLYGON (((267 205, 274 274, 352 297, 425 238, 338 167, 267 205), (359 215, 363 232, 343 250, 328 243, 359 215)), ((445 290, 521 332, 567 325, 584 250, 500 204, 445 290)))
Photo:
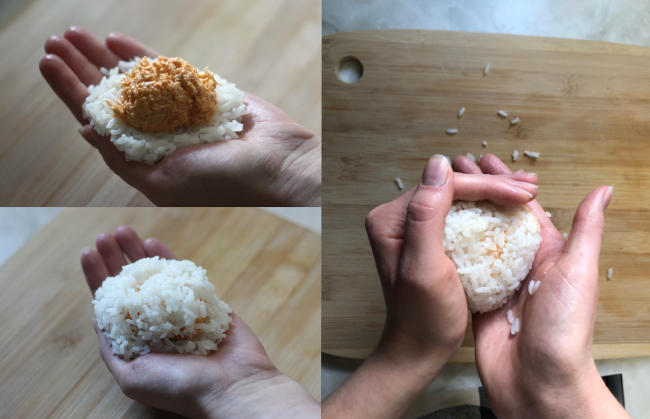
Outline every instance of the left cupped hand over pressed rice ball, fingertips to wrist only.
POLYGON ((452 201, 520 205, 533 199, 536 182, 523 172, 453 173, 444 156, 434 156, 415 190, 370 212, 366 229, 387 306, 378 351, 424 360, 453 355, 465 334, 467 301, 443 244, 452 201))

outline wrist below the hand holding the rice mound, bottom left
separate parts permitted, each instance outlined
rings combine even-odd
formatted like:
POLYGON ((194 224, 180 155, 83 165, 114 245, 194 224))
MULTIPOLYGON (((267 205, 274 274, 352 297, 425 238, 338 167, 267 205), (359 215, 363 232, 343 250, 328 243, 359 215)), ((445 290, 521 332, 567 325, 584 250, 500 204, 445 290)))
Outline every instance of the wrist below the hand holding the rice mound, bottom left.
POLYGON ((200 401, 202 417, 320 417, 320 406, 300 384, 277 369, 261 370, 216 389, 200 401))

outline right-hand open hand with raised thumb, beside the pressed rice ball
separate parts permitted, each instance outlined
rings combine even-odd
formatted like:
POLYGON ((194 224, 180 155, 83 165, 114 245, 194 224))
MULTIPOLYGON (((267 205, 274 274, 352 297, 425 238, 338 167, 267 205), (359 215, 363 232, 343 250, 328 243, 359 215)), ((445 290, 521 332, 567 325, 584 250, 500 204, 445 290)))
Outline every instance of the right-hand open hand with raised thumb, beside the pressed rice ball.
MULTIPOLYGON (((480 166, 464 156, 454 160, 454 169, 466 174, 510 173, 491 154, 480 166)), ((604 210, 612 192, 601 186, 582 201, 568 241, 537 201, 528 203, 542 235, 528 279, 504 307, 472 320, 477 367, 499 417, 627 416, 591 355, 604 210), (528 293, 531 280, 541 281, 534 295, 528 293), (506 320, 509 309, 520 319, 515 336, 506 320)))

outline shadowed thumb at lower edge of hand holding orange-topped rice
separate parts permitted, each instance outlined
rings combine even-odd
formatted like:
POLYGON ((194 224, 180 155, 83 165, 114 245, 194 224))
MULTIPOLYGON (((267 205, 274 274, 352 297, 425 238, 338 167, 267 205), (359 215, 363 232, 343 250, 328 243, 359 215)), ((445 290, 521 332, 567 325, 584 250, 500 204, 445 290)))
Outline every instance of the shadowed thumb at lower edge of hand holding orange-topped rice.
POLYGON ((124 154, 110 141, 110 137, 97 134, 90 125, 84 125, 79 133, 99 151, 102 159, 113 172, 128 184, 141 189, 140 186, 146 178, 147 172, 151 170, 150 167, 142 162, 127 162, 124 154))

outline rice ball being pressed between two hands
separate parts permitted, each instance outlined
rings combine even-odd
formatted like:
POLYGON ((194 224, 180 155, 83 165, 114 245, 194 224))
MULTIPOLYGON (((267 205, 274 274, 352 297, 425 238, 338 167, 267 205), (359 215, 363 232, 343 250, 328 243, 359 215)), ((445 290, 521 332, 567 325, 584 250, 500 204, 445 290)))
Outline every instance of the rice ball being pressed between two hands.
POLYGON ((445 252, 456 264, 469 308, 485 313, 519 289, 542 242, 537 218, 525 207, 458 201, 445 224, 445 252))

